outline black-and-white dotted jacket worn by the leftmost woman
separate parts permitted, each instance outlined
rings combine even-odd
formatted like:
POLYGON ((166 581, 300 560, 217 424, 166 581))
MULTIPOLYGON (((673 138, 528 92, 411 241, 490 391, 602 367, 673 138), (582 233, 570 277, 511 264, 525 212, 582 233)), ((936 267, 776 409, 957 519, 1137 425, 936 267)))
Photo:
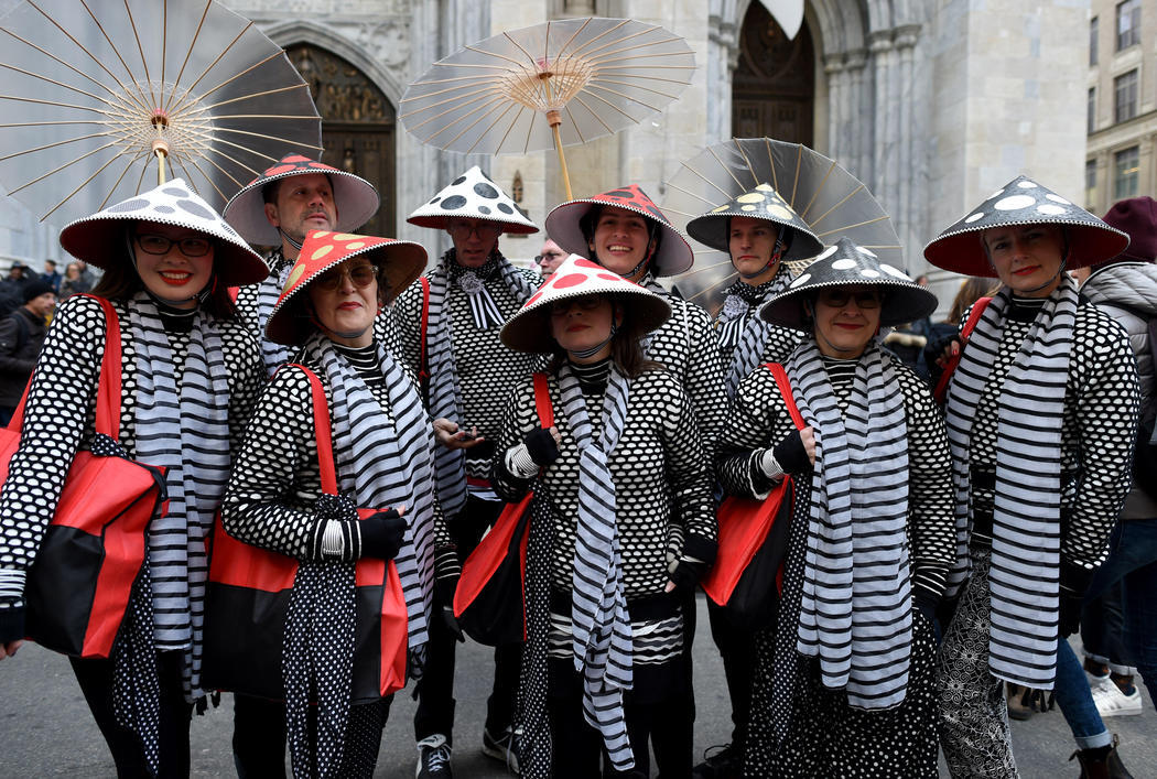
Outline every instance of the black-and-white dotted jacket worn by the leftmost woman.
MULTIPOLYGON (((121 343, 119 441, 132 457, 137 449, 137 352, 125 303, 112 301, 112 307, 120 321, 121 343)), ((219 329, 229 374, 230 448, 236 451, 264 372, 257 341, 243 319, 220 322, 219 329)), ((175 359, 184 363, 187 333, 168 335, 175 359)), ((24 412, 22 447, 0 493, 0 609, 21 603, 23 572, 36 557, 73 457, 91 444, 104 337, 101 304, 75 295, 57 310, 44 341, 24 412)))

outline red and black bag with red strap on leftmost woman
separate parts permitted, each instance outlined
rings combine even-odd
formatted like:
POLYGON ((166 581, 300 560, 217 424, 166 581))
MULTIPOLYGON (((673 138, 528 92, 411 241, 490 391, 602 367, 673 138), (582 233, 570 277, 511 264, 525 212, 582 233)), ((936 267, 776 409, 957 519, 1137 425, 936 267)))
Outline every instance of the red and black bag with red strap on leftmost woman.
MULTIPOLYGON (((108 300, 88 296, 104 309, 106 330, 96 432, 119 442, 120 324, 108 300)), ((28 388, 0 431, 0 482, 20 446, 27 399, 28 388)), ((29 639, 76 657, 109 656, 145 565, 145 534, 154 516, 164 515, 167 498, 164 469, 76 453, 24 583, 29 639)))

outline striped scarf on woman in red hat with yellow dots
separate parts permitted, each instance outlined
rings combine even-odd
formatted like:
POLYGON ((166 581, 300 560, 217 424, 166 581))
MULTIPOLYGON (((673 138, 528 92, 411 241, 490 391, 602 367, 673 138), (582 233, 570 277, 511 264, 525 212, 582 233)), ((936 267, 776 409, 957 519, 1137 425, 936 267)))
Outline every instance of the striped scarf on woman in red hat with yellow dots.
POLYGON ((395 565, 406 597, 408 646, 420 653, 434 588, 434 429, 414 383, 382 344, 377 353, 389 414, 333 341, 314 333, 304 346, 305 359, 329 379, 338 487, 362 508, 406 507, 408 527, 395 565))

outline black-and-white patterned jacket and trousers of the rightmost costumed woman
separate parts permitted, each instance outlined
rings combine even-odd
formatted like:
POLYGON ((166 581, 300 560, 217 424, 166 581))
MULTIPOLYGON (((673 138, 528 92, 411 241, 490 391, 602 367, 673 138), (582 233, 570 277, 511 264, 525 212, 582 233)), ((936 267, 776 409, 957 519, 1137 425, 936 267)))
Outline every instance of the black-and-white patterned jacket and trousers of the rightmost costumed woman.
MULTIPOLYGON (((1040 301, 1018 302, 980 395, 971 429, 974 473, 971 510, 992 513, 994 488, 979 473, 995 471, 997 403, 1017 354, 1037 317, 1040 301)), ((967 318, 967 314, 965 314, 967 318)), ((978 348, 970 343, 967 348, 978 348)), ((1059 575, 1099 565, 1108 534, 1128 493, 1129 460, 1137 409, 1137 375, 1128 336, 1112 317, 1081 301, 1071 337, 1061 426, 1061 523, 1059 575)), ((990 522, 989 522, 990 528, 990 522)), ((1008 712, 1001 681, 989 670, 992 530, 974 528, 968 542, 972 572, 937 656, 936 683, 941 735, 953 776, 1015 777, 1008 712)))

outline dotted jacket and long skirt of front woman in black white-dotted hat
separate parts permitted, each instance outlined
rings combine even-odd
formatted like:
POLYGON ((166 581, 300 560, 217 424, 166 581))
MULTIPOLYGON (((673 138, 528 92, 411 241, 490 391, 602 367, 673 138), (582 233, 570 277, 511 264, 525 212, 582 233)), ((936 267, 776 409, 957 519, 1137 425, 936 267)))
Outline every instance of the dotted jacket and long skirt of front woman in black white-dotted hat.
MULTIPOLYGON (((824 362, 838 405, 846 412, 854 376, 848 370, 855 362, 824 362)), ((906 535, 911 585, 913 591, 922 590, 938 600, 955 554, 948 441, 927 385, 898 361, 893 367, 908 431, 906 535)), ((772 483, 764 476, 759 457, 793 431, 795 424, 772 373, 756 370, 740 383, 721 440, 718 477, 724 492, 747 498, 765 495, 772 483)), ((860 453, 858 457, 870 458, 871 451, 860 453)), ((849 706, 842 690, 820 684, 818 661, 795 651, 808 549, 810 477, 796 477, 795 486, 780 619, 756 638, 758 662, 744 776, 935 777, 935 642, 928 619, 913 615, 906 696, 887 710, 849 706), (781 744, 773 733, 775 720, 789 721, 781 744)))

